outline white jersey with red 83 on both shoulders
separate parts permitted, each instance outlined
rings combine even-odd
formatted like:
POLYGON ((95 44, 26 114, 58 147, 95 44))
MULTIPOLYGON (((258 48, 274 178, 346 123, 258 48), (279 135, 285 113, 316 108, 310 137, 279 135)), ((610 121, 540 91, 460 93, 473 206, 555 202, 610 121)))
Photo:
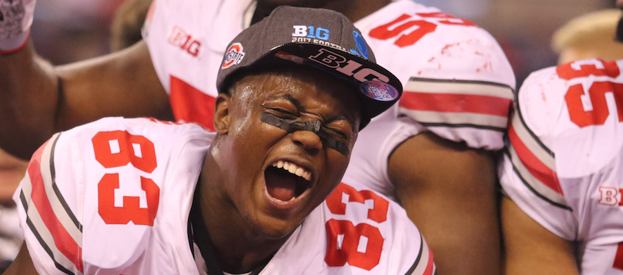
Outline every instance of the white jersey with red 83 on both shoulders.
MULTIPOLYGON (((40 274, 206 274, 189 213, 214 133, 196 124, 104 118, 57 133, 15 193, 40 274)), ((340 184, 254 274, 434 274, 397 203, 340 184)), ((214 275, 214 272, 213 272, 214 275)))

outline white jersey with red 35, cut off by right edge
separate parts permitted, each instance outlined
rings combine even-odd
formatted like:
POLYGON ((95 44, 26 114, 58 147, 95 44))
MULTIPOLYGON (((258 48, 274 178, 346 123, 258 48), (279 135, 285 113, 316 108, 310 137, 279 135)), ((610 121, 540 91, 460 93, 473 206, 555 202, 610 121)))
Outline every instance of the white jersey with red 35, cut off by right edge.
POLYGON ((622 69, 591 59, 531 74, 498 168, 529 217, 577 242, 584 275, 623 274, 622 69))

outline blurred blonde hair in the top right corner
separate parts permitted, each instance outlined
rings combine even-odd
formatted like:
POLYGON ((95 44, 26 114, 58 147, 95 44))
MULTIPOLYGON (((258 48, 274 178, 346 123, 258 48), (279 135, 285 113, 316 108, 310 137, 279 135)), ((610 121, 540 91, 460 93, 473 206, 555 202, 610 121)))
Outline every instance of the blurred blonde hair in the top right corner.
POLYGON ((617 22, 622 14, 622 10, 613 8, 571 19, 553 34, 553 50, 560 54, 569 48, 602 47, 604 43, 606 45, 620 44, 623 50, 623 43, 615 42, 617 22))

